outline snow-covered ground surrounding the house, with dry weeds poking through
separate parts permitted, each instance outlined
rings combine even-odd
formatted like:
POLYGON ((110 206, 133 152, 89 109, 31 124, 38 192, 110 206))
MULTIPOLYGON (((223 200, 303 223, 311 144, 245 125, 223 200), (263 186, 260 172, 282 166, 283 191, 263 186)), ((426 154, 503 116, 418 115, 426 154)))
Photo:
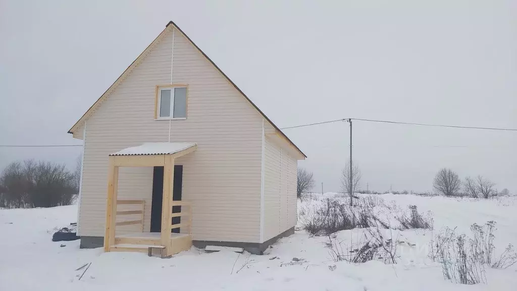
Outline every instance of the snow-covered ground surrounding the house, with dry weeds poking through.
MULTIPOLYGON (((399 246, 397 264, 373 260, 364 264, 334 262, 324 242, 301 230, 311 209, 325 197, 314 195, 298 202, 296 234, 281 239, 263 256, 233 252, 204 253, 192 248, 170 259, 142 253, 103 253, 81 250, 79 241, 52 242, 56 227, 75 222, 76 206, 49 209, 0 210, 0 290, 515 290, 517 265, 486 268, 486 284, 461 285, 444 280, 442 266, 428 257, 429 242, 440 228, 457 227, 469 235, 473 223, 497 222, 495 255, 508 243, 517 244, 517 200, 454 199, 412 195, 375 195, 400 209, 416 205, 431 211, 434 230, 391 230, 406 243, 399 246), (395 202, 392 202, 395 201, 395 202), (273 257, 276 257, 273 259, 273 257), (293 261, 293 258, 299 261, 293 261), (75 269, 91 267, 79 280, 75 269)), ((338 198, 346 201, 346 198, 338 198)), ((343 230, 335 236, 353 241, 361 230, 343 230)))

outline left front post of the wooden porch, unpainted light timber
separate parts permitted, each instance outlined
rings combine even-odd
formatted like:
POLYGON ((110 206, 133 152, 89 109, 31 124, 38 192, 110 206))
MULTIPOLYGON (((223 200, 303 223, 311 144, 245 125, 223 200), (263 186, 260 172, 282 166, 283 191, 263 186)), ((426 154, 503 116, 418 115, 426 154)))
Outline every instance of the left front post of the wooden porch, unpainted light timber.
POLYGON ((106 231, 104 234, 104 252, 110 251, 115 244, 115 225, 117 213, 118 167, 114 164, 113 156, 108 162, 108 199, 106 203, 106 231))

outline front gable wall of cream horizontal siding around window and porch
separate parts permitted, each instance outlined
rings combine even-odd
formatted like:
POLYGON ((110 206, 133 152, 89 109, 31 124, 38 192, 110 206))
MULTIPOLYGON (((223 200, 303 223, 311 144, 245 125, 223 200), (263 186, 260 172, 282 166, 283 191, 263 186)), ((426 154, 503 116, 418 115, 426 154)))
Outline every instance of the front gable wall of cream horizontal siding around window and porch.
MULTIPOLYGON (((103 236, 108 155, 143 142, 168 141, 155 121, 155 86, 171 80, 172 25, 87 120, 80 227, 103 236)), ((171 122, 171 141, 196 142, 183 165, 183 199, 193 201, 194 240, 260 240, 262 116, 176 31, 173 82, 188 83, 187 120, 171 122)), ((145 198, 149 230, 152 168, 121 168, 119 198, 145 198)))

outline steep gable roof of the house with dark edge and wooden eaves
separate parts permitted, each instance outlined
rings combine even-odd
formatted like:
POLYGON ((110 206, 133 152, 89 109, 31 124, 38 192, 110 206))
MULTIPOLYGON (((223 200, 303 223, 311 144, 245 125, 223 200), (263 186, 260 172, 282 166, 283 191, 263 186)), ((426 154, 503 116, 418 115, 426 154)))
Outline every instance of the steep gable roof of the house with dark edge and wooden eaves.
POLYGON ((97 101, 95 101, 95 103, 83 114, 83 116, 68 130, 68 133, 69 134, 73 134, 73 132, 75 130, 77 130, 77 127, 79 127, 88 117, 90 117, 90 115, 92 115, 94 113, 94 111, 100 106, 100 104, 108 97, 108 95, 110 95, 114 90, 115 88, 118 86, 118 84, 120 84, 124 79, 126 79, 126 77, 130 74, 130 72, 140 64, 140 62, 142 62, 142 60, 144 59, 144 57, 154 48, 154 46, 157 44, 157 40, 158 39, 161 39, 161 37, 164 35, 165 31, 167 30, 167 28, 169 27, 169 25, 173 25, 174 28, 176 28, 183 36, 185 36, 185 38, 188 39, 188 41, 190 43, 192 43, 192 45, 199 51, 201 52, 201 54, 203 54, 203 56, 208 60, 208 62, 210 62, 220 73, 221 75, 223 75, 223 77, 228 81, 230 82, 230 84, 232 84, 234 86, 234 88, 239 91, 239 93, 244 96, 246 98, 246 100, 248 100, 248 102, 273 126, 275 127, 276 130, 278 130, 278 132, 283 136, 285 137, 285 139, 293 146, 296 148, 296 150, 298 150, 298 152, 300 152, 303 156, 307 157, 307 155, 305 155, 297 146, 296 144, 294 144, 293 141, 291 141, 290 138, 288 138, 283 132, 282 130, 280 130, 280 128, 278 128, 278 126, 276 126, 267 116, 266 114, 264 114, 264 112, 262 112, 262 110, 260 110, 260 108, 258 108, 254 103, 253 101, 251 101, 250 98, 248 98, 248 96, 246 96, 246 94, 244 94, 244 92, 242 92, 242 90, 240 90, 237 85, 228 77, 226 76, 226 74, 224 74, 224 72, 214 63, 214 61, 212 61, 193 41, 192 39, 190 39, 190 37, 188 37, 182 30, 181 28, 179 28, 176 23, 174 23, 173 21, 169 21, 169 23, 167 23, 167 25, 165 25, 165 29, 153 40, 153 42, 151 42, 149 44, 149 46, 147 46, 147 48, 136 58, 136 60, 134 60, 131 65, 129 65, 126 70, 124 70, 124 72, 122 73, 122 75, 120 75, 120 77, 118 77, 115 82, 113 82, 113 84, 110 86, 110 88, 108 88, 108 90, 106 90, 100 97, 99 99, 97 99, 97 101))

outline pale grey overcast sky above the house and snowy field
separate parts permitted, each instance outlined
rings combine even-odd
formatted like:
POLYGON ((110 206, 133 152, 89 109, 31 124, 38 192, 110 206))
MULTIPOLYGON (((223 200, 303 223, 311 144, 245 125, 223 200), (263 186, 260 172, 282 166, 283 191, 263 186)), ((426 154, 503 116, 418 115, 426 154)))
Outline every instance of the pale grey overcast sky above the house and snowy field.
MULTIPOLYGON (((339 118, 517 128, 515 1, 0 0, 0 144, 67 130, 173 20, 279 127, 339 118)), ((348 124, 285 130, 338 191, 348 124)), ((440 167, 517 193, 517 132, 354 122, 362 188, 431 190, 440 167)), ((0 148, 73 165, 80 148, 0 148)))

